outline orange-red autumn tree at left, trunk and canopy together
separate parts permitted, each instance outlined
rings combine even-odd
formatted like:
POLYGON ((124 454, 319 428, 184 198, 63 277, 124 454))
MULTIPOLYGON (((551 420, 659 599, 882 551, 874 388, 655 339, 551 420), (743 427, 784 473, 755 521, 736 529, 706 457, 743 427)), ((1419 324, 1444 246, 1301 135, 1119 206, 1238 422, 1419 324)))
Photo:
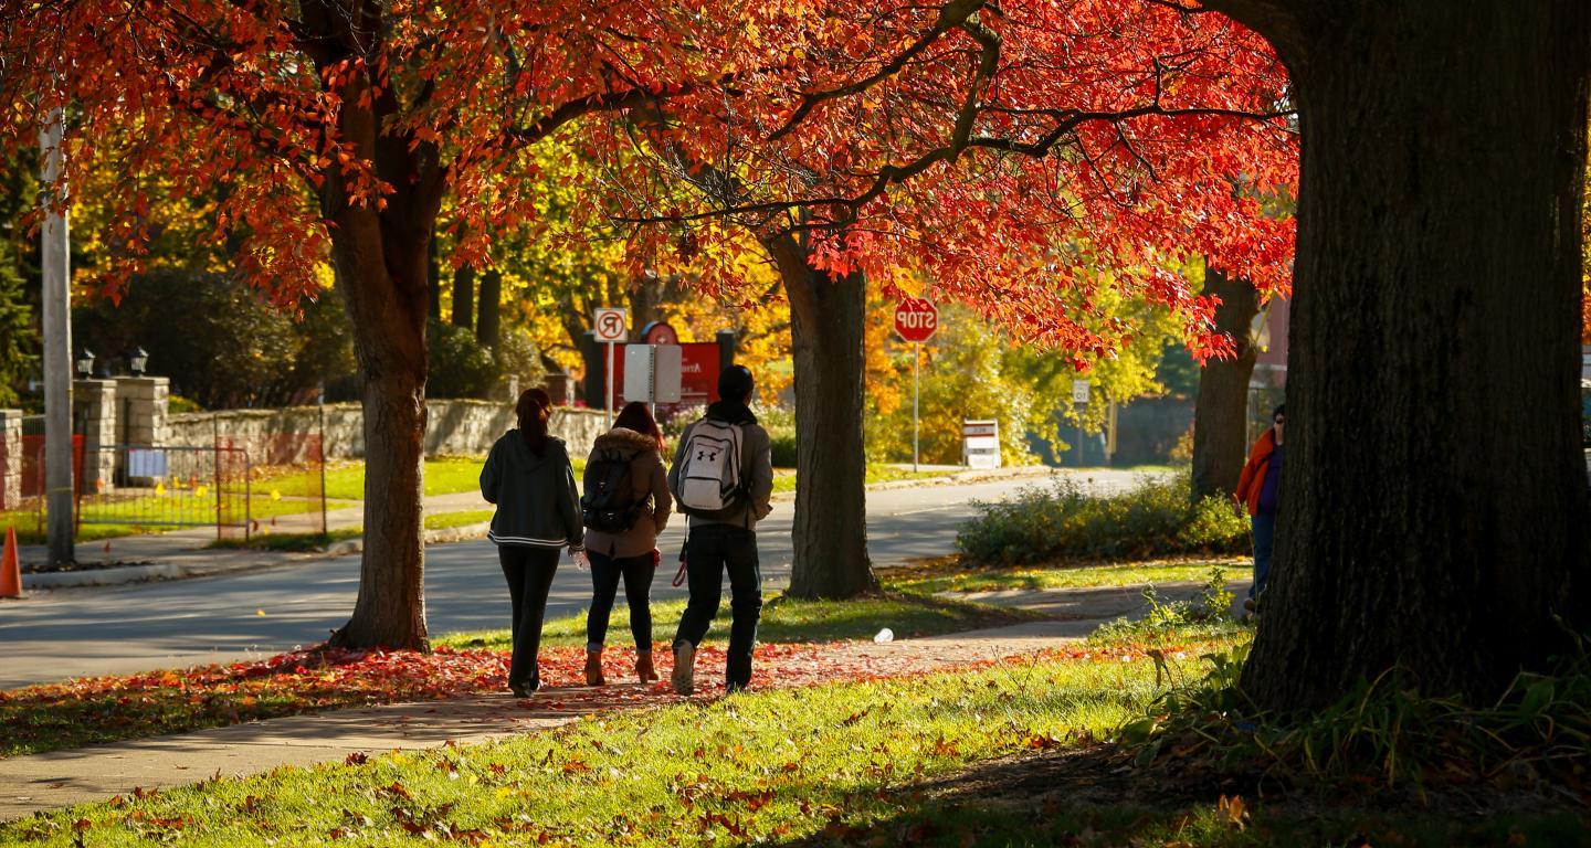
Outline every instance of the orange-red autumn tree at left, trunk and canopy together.
POLYGON ((154 180, 208 197, 216 239, 277 301, 336 267, 363 380, 366 544, 336 640, 426 644, 420 474, 431 239, 461 250, 535 218, 525 151, 570 121, 722 80, 732 5, 62 0, 0 11, 0 132, 33 146, 70 115, 73 173, 113 162, 105 285, 140 266, 154 180), (714 25, 702 25, 713 22, 714 25), (686 38, 690 49, 684 49, 686 38), (644 68, 644 70, 636 70, 644 68))

